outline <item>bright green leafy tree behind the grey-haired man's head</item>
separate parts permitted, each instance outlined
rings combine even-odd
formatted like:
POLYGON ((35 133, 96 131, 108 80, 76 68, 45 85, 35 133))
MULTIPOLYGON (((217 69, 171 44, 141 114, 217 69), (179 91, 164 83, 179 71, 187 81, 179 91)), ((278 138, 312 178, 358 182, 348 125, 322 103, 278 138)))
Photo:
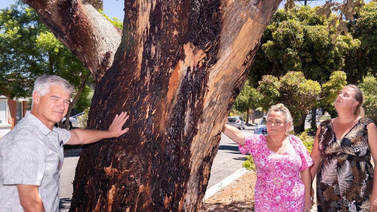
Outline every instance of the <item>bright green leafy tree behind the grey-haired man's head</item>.
MULTIPOLYGON (((11 97, 31 97, 36 77, 59 75, 83 95, 74 106, 90 106, 91 77, 83 62, 61 43, 38 18, 34 9, 16 1, 0 10, 0 87, 11 97), (84 79, 84 86, 81 86, 84 79)), ((74 97, 74 95, 72 96, 74 97)), ((69 115, 69 114, 68 114, 69 115)))

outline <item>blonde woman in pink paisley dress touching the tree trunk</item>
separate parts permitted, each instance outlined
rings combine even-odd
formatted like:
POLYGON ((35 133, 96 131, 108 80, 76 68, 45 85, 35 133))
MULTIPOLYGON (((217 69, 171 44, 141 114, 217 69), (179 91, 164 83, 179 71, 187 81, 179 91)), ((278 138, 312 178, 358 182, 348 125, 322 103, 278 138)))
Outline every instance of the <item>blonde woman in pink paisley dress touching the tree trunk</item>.
POLYGON ((268 135, 242 133, 225 124, 222 132, 239 144, 242 154, 253 155, 257 168, 256 212, 306 212, 310 199, 313 160, 295 135, 287 135, 292 117, 283 104, 271 106, 267 114, 268 135))

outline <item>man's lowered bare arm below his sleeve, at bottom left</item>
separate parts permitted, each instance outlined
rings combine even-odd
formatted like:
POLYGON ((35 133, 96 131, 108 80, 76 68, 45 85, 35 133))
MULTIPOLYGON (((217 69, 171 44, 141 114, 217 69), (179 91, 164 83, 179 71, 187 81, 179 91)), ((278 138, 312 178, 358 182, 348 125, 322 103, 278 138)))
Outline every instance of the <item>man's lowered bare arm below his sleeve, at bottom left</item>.
POLYGON ((38 195, 38 186, 17 184, 17 190, 20 204, 25 212, 45 212, 38 195))

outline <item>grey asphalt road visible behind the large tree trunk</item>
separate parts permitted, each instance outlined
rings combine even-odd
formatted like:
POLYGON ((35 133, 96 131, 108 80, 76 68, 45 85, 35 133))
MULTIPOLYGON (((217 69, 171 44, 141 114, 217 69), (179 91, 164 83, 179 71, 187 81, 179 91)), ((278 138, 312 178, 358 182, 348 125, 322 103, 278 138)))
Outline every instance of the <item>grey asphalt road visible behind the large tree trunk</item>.
MULTIPOLYGON (((307 118, 308 119, 308 118, 307 118)), ((305 128, 310 124, 305 123, 305 128)), ((242 132, 254 133, 256 125, 247 126, 242 132)), ((75 169, 79 158, 78 153, 65 154, 64 164, 60 172, 60 205, 59 212, 66 212, 70 207, 73 186, 72 182, 75 177, 75 169)), ((207 188, 214 186, 222 179, 241 169, 245 156, 238 150, 238 145, 230 140, 226 135, 221 135, 219 149, 211 167, 211 177, 208 181, 207 188)))

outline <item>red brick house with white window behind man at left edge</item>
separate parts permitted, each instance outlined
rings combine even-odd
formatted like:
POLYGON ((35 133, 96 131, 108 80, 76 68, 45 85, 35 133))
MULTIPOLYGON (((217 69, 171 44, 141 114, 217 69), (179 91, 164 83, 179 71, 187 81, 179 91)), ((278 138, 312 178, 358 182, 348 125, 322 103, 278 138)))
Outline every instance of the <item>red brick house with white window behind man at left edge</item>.
POLYGON ((29 108, 29 100, 0 95, 0 137, 3 137, 20 121, 29 108))

